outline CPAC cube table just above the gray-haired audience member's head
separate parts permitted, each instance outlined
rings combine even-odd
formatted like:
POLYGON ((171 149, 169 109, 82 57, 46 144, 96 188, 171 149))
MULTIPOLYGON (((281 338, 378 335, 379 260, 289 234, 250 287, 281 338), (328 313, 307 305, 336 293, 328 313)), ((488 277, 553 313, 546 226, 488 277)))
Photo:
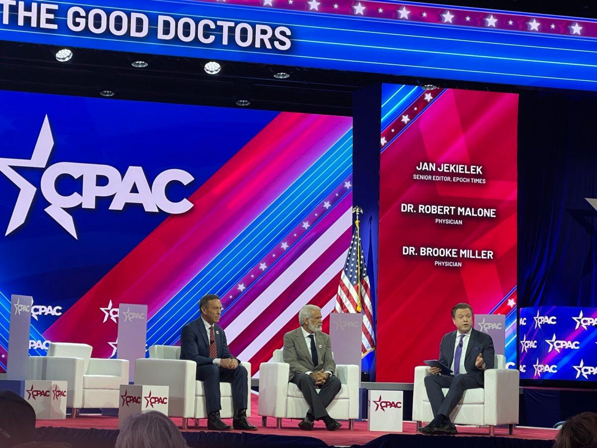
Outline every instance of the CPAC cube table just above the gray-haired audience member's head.
POLYGON ((156 410, 168 415, 168 386, 141 386, 122 384, 118 407, 118 427, 131 414, 156 410))

